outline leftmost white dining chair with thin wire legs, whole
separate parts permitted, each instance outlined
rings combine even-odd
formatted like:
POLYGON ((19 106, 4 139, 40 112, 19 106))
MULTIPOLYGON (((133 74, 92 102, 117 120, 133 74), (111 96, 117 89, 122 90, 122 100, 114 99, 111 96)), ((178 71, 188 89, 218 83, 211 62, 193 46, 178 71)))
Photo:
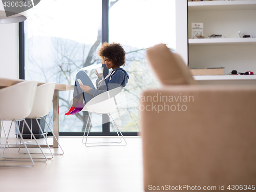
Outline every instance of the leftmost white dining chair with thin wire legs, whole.
MULTIPOLYGON (((0 119, 1 120, 8 120, 12 123, 15 122, 15 128, 18 132, 18 135, 20 136, 20 139, 23 141, 23 144, 26 148, 27 154, 29 158, 18 158, 16 157, 5 157, 4 153, 6 150, 6 145, 8 143, 8 138, 10 135, 11 126, 7 135, 5 147, 2 153, 1 162, 6 161, 27 161, 25 159, 30 159, 31 165, 0 165, 0 166, 24 166, 24 167, 31 167, 34 165, 34 160, 32 159, 29 150, 26 146, 26 143, 24 142, 24 139, 22 137, 22 134, 20 133, 18 126, 16 124, 16 121, 24 120, 32 110, 34 98, 35 98, 35 92, 37 87, 38 81, 25 81, 17 83, 13 86, 3 88, 0 90, 0 119)), ((1 126, 2 128, 2 126, 1 126)), ((0 130, 1 131, 1 130, 0 130)), ((29 129, 31 132, 31 130, 29 129)), ((31 132, 32 134, 32 132, 31 132)), ((41 150, 41 148, 40 148, 41 150)), ((42 151, 41 151, 42 152, 42 151)), ((44 154, 42 152, 42 154, 44 154)), ((46 158, 46 157, 45 157, 46 158)))

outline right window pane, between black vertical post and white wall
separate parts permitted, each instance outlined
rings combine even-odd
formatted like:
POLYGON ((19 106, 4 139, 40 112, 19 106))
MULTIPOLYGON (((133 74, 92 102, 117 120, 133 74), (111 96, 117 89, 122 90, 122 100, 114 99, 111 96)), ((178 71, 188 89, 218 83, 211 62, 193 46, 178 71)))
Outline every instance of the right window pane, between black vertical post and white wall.
POLYGON ((138 131, 140 94, 159 87, 147 64, 146 49, 161 43, 175 49, 175 0, 119 0, 113 7, 110 1, 109 40, 123 45, 124 69, 130 75, 124 88, 127 111, 117 123, 123 131, 138 131))

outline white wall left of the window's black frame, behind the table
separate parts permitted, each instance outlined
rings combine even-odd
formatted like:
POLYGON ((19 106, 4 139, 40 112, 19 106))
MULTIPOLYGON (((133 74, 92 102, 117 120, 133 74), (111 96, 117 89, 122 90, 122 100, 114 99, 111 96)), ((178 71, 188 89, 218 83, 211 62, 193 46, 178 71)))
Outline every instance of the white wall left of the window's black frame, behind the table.
MULTIPOLYGON (((18 24, 0 24, 0 77, 18 79, 18 24)), ((10 122, 4 126, 9 127, 10 122)), ((13 127, 10 136, 15 137, 13 127)))

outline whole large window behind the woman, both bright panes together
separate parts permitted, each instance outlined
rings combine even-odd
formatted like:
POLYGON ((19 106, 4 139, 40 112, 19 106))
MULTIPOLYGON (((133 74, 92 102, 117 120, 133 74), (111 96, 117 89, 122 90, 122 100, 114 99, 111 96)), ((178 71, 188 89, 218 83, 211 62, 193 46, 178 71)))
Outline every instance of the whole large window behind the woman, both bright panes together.
MULTIPOLYGON (((147 65, 145 50, 159 43, 175 49, 175 0, 40 1, 28 10, 25 22, 25 79, 73 84, 81 68, 101 65, 97 51, 102 43, 102 22, 109 28, 103 36, 109 35, 110 42, 124 47, 124 69, 130 75, 121 95, 126 106, 114 116, 122 132, 138 132, 139 95, 159 86, 147 65), (102 12, 108 3, 109 20, 105 22, 102 12)), ((95 82, 95 69, 86 72, 95 82)), ((81 135, 88 113, 65 116, 71 102, 72 91, 59 92, 59 131, 81 135)), ((102 133, 102 115, 93 115, 90 123, 92 132, 102 133)))

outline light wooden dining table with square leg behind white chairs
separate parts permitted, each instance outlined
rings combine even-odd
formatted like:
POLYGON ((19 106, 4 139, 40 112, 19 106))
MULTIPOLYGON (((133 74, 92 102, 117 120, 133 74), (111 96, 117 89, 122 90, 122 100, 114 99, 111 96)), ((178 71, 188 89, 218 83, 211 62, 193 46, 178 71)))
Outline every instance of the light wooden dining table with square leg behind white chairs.
MULTIPOLYGON (((13 84, 17 84, 19 82, 23 82, 26 80, 23 79, 8 79, 8 78, 1 78, 0 77, 0 89, 12 86, 13 84)), ((47 82, 38 82, 38 86, 41 84, 45 84, 47 82)), ((57 139, 59 139, 59 91, 73 91, 74 86, 70 84, 59 84, 56 83, 54 96, 53 96, 53 133, 57 139)), ((1 135, 1 133, 0 133, 1 135)), ((57 148, 58 143, 53 138, 53 145, 51 147, 57 148)))

